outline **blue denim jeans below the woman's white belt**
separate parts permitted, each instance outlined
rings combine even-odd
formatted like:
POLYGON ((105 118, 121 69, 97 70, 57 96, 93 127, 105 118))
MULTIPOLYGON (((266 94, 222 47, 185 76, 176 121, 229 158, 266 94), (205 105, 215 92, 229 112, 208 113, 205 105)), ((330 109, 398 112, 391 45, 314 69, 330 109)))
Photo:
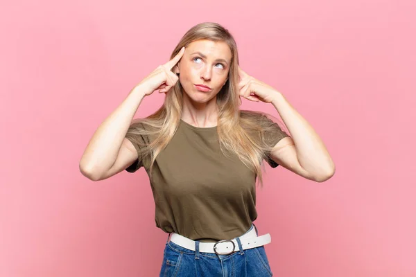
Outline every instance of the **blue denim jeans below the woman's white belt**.
MULTIPOLYGON (((254 224, 248 231, 251 231, 254 224)), ((247 231, 247 232, 248 232, 247 231)), ((257 235, 259 234, 257 232, 257 235)), ((239 237, 235 238, 241 247, 239 237)), ((240 248, 241 249, 241 248, 240 248)), ((229 255, 217 255, 196 251, 166 242, 160 277, 270 277, 273 276, 264 246, 235 251, 229 255)))

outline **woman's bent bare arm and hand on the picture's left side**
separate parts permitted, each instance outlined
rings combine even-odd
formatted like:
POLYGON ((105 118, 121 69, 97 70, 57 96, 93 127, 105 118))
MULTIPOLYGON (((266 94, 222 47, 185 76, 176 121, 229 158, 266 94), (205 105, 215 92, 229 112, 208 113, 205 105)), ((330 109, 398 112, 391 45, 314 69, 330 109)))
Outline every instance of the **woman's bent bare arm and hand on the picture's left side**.
POLYGON ((141 80, 96 129, 80 160, 80 171, 85 177, 92 180, 105 179, 138 158, 137 152, 130 151, 134 148, 132 143, 125 139, 133 116, 145 96, 156 90, 167 93, 176 84, 178 77, 171 69, 180 61, 184 51, 185 48, 182 47, 175 57, 166 64, 157 66, 157 69, 141 80))

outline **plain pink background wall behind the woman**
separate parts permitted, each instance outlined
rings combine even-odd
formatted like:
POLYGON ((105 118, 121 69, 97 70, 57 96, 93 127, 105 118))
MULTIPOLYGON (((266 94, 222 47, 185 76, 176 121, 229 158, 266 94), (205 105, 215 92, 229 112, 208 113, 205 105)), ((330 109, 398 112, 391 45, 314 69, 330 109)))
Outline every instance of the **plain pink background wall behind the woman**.
POLYGON ((78 162, 102 120, 202 21, 232 31, 242 68, 284 93, 336 163, 322 184, 267 167, 255 223, 272 236, 275 276, 416 276, 415 1, 9 2, 0 276, 159 274, 167 235, 146 172, 93 182, 78 162))

